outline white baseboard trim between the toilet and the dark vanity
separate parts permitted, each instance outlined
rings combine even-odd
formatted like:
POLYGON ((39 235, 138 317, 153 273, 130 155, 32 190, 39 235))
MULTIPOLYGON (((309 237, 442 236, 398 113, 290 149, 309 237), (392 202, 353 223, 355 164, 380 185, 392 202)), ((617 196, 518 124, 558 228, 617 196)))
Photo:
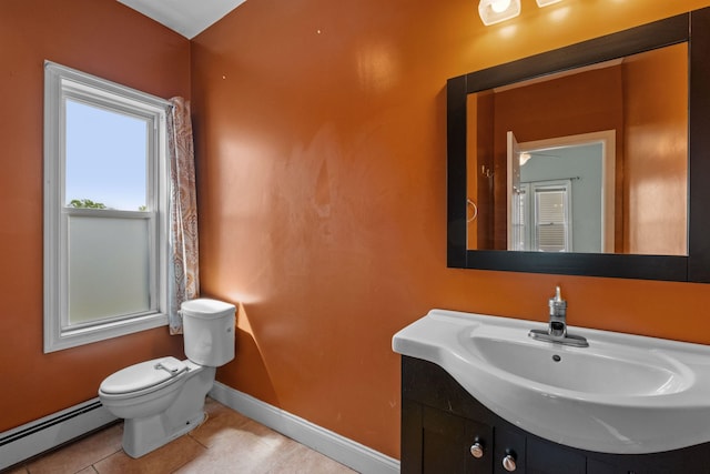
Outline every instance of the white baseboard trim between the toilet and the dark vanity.
POLYGON ((215 382, 210 396, 232 410, 359 473, 399 473, 399 461, 264 403, 223 383, 215 382))

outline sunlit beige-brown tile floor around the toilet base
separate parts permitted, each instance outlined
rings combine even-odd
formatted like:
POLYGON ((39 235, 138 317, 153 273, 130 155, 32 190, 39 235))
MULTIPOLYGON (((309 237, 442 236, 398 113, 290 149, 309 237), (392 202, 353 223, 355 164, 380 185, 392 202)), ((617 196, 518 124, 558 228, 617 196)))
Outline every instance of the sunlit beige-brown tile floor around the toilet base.
POLYGON ((207 420, 191 433, 134 460, 115 424, 7 474, 353 474, 295 441, 207 399, 207 420))

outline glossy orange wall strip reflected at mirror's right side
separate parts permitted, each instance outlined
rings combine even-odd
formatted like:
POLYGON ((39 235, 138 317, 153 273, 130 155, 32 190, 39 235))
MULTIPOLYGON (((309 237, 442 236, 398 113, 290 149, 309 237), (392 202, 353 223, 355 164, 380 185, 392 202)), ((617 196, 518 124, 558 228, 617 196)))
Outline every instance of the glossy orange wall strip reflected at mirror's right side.
POLYGON ((688 47, 678 44, 623 63, 629 91, 625 251, 630 253, 688 254, 687 59, 688 47))

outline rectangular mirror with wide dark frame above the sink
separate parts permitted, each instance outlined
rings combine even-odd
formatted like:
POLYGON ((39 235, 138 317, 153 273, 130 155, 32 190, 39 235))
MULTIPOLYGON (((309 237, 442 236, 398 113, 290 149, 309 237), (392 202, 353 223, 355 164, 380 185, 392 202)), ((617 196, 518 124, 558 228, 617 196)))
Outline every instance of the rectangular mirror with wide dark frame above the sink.
POLYGON ((710 282, 708 58, 710 8, 449 79, 448 266, 710 282))

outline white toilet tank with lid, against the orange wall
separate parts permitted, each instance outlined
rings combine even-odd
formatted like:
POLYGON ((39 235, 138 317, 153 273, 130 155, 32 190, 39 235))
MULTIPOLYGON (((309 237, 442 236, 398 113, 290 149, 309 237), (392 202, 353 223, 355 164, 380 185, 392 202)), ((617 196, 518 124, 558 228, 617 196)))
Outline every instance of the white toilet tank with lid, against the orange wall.
POLYGON ((185 355, 195 364, 219 367, 234 359, 233 304, 200 297, 180 305, 185 355))

